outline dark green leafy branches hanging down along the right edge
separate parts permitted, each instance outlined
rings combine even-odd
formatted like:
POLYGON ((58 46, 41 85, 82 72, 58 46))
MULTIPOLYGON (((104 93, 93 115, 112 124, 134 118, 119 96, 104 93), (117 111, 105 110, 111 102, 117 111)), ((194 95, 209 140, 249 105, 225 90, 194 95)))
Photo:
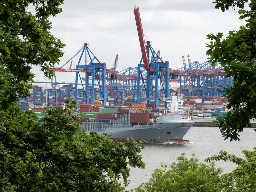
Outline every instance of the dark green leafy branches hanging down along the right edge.
POLYGON ((211 40, 207 45, 210 61, 219 62, 227 77, 233 76, 233 84, 223 91, 229 99, 227 107, 233 108, 227 117, 219 119, 220 130, 225 139, 238 140, 244 127, 250 127, 250 119, 256 118, 256 1, 248 0, 216 0, 215 8, 225 11, 239 8, 240 19, 246 25, 237 31, 229 31, 227 37, 223 33, 209 34, 211 40))

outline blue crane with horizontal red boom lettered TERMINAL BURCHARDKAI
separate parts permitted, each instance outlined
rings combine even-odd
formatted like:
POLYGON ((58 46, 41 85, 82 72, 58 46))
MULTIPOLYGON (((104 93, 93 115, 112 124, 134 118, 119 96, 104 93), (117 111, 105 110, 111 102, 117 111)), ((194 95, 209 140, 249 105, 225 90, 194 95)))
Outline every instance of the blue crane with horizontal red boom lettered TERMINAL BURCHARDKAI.
MULTIPOLYGON (((82 48, 73 56, 71 57, 64 65, 60 68, 51 68, 52 71, 61 71, 61 72, 75 72, 76 79, 75 79, 75 92, 74 92, 74 99, 75 101, 81 100, 84 101, 86 104, 94 103, 94 100, 102 100, 103 104, 106 103, 106 74, 117 74, 117 71, 112 71, 110 69, 106 69, 106 63, 100 62, 99 59, 92 53, 89 49, 89 44, 84 43, 82 48), (70 67, 63 68, 69 61, 71 61, 78 53, 80 53, 80 57, 75 69, 70 67), (84 63, 80 63, 82 57, 85 57, 84 63), (81 75, 85 75, 85 83, 82 81, 81 75), (89 86, 89 78, 91 78, 91 86, 89 86), (82 83, 83 87, 83 97, 78 97, 78 80, 82 83), (96 80, 96 81, 95 81, 96 80), (95 83, 97 89, 95 88, 95 83), (85 85, 85 86, 84 86, 85 85)), ((113 76, 113 75, 112 75, 113 76)))

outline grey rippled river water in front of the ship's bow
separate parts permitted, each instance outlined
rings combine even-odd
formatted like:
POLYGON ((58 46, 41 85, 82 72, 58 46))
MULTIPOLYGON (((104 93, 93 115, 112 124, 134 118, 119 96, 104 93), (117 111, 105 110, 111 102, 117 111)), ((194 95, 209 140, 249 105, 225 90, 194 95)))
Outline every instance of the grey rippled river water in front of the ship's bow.
MULTIPOLYGON (((190 142, 185 144, 172 142, 145 144, 141 155, 146 168, 131 168, 130 184, 126 189, 134 189, 142 182, 148 181, 153 170, 161 167, 161 162, 169 165, 182 152, 185 152, 188 158, 195 153, 200 162, 204 162, 206 157, 217 155, 221 150, 243 157, 243 149, 253 150, 253 147, 256 146, 256 132, 250 128, 245 128, 240 134, 240 142, 224 140, 218 127, 191 127, 183 139, 188 139, 190 142)), ((231 172, 235 165, 230 162, 218 161, 216 167, 221 167, 223 172, 227 173, 231 172)))

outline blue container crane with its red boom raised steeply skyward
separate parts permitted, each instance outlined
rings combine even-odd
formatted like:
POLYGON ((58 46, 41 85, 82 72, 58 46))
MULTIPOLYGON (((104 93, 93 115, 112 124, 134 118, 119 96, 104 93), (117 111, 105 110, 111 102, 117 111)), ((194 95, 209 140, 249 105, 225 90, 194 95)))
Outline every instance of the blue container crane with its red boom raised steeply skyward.
POLYGON ((154 94, 155 97, 155 107, 158 107, 158 101, 166 100, 169 94, 168 82, 169 82, 169 61, 164 62, 160 58, 160 51, 155 52, 151 46, 151 41, 145 42, 143 28, 141 24, 139 7, 133 8, 137 32, 139 36, 140 49, 142 58, 137 68, 137 103, 141 101, 146 101, 150 103, 150 94, 154 94), (152 61, 149 62, 150 54, 152 55, 152 61), (141 64, 143 61, 143 65, 141 64), (143 68, 143 69, 141 69, 143 68), (143 78, 142 71, 146 70, 147 76, 143 78), (153 81, 154 80, 154 85, 153 81), (160 79, 160 82, 159 82, 160 79), (145 85, 146 81, 146 85, 145 85), (142 82, 142 83, 141 83, 142 82), (163 83, 164 82, 164 83, 163 83), (140 83, 143 85, 146 92, 146 99, 141 98, 140 83), (159 85, 160 83, 160 85, 159 85), (165 86, 164 86, 165 84, 165 86), (161 89, 162 87, 162 89, 161 89), (164 95, 163 95, 164 93, 164 95))

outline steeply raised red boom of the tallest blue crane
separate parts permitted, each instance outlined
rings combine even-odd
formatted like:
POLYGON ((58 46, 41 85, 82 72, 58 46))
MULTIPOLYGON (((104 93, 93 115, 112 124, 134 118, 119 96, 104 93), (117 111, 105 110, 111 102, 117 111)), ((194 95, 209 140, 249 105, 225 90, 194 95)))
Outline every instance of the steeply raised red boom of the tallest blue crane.
POLYGON ((137 26, 137 31, 139 35, 139 41, 140 41, 140 49, 141 49, 141 54, 143 58, 143 64, 144 68, 146 70, 149 70, 149 62, 148 62, 148 56, 147 56, 147 51, 146 51, 146 46, 145 46, 145 39, 143 35, 143 29, 142 29, 142 24, 141 24, 141 19, 140 19, 140 11, 139 7, 138 8, 133 8, 134 16, 135 16, 135 21, 136 21, 136 26, 137 26))

